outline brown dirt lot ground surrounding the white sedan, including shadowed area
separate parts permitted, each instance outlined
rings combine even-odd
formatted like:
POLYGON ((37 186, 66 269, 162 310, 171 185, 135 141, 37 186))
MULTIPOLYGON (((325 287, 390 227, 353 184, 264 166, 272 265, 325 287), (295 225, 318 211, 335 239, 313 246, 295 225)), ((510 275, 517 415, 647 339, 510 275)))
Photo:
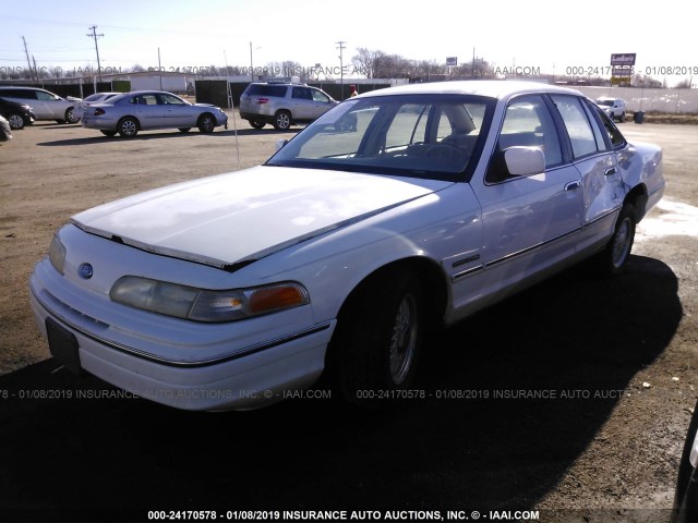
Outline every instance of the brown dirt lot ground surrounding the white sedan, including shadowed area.
POLYGON ((698 126, 622 125, 664 147, 669 181, 628 272, 576 268, 432 340, 422 385, 452 399, 186 413, 52 373, 27 279, 55 230, 120 196, 260 163, 290 136, 238 126, 239 162, 232 130, 127 141, 40 123, 0 146, 0 521, 245 508, 667 521, 698 397, 698 126))

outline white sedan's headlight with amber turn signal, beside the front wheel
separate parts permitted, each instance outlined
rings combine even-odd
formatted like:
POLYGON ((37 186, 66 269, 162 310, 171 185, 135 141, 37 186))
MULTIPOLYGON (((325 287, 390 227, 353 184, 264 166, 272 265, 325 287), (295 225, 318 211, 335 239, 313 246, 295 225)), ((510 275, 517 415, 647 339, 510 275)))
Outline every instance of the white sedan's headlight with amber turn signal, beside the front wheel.
POLYGON ((144 311, 207 323, 236 321, 310 303, 305 288, 293 282, 208 291, 136 276, 120 278, 109 296, 144 311))

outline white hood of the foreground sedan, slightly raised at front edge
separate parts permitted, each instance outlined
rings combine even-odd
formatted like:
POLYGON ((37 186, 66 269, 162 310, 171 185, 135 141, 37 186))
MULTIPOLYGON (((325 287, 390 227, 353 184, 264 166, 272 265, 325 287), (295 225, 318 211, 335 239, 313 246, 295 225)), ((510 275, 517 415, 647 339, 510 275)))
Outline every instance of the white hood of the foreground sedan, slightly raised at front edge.
POLYGON ((71 221, 144 251, 234 270, 450 184, 260 166, 105 204, 71 221))

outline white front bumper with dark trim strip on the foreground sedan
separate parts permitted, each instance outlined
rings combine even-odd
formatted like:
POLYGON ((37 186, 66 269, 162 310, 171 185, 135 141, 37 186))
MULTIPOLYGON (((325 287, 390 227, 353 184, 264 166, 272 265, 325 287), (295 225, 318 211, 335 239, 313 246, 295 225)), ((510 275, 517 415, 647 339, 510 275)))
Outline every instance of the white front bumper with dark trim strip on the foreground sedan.
MULTIPOLYGON (((109 327, 63 306, 31 279, 31 302, 46 338, 50 318, 74 336, 80 366, 144 399, 184 410, 227 411, 264 406, 310 387, 322 374, 335 321, 207 361, 181 362, 139 354, 108 339, 109 327)), ((202 345, 207 340, 202 340, 202 345)))

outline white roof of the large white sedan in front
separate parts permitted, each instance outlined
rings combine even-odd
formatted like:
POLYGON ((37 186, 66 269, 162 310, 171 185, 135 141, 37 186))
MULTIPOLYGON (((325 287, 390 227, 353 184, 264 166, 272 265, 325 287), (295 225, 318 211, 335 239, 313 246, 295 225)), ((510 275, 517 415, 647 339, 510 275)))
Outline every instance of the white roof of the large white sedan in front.
POLYGON ((532 93, 553 93, 583 96, 581 93, 569 87, 543 84, 540 82, 524 81, 496 81, 496 80, 473 80, 455 82, 433 82, 425 84, 409 84, 377 89, 363 95, 361 98, 385 95, 477 95, 491 98, 504 99, 514 95, 532 93))

